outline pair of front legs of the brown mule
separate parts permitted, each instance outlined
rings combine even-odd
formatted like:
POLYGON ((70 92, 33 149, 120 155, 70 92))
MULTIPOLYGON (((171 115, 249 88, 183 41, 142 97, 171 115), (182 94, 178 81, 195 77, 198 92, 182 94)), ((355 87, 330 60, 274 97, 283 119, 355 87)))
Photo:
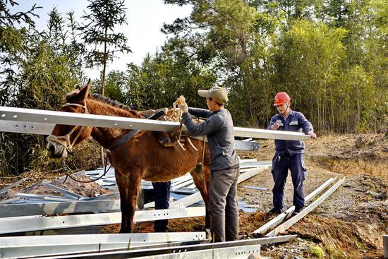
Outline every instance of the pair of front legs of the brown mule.
POLYGON ((116 171, 116 182, 120 191, 121 229, 120 233, 131 233, 133 216, 135 215, 136 200, 140 176, 124 175, 116 171))

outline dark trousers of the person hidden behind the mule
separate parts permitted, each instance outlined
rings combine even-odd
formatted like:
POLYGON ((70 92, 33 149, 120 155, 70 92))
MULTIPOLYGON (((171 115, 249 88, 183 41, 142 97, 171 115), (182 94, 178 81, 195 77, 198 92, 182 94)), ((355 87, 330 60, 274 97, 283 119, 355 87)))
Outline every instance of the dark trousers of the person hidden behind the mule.
MULTIPOLYGON (((162 183, 152 183, 152 186, 154 186, 155 210, 168 209, 170 201, 171 182, 166 181, 162 183)), ((167 224, 169 224, 168 219, 155 220, 154 231, 166 231, 167 224)))

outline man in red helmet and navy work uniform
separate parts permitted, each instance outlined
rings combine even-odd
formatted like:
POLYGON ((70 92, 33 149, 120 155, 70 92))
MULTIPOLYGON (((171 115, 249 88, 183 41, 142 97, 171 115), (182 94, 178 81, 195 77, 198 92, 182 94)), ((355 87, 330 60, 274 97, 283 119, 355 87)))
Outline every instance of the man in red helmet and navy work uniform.
MULTIPOLYGON (((317 138, 313 125, 305 119, 301 112, 291 110, 291 98, 286 92, 278 92, 274 98, 274 107, 279 114, 272 116, 268 129, 274 131, 301 131, 317 138)), ((274 178, 274 207, 269 210, 269 214, 279 214, 284 207, 284 187, 286 185, 287 174, 291 171, 293 183, 293 205, 295 210, 293 215, 298 214, 305 205, 305 193, 303 181, 306 176, 303 150, 305 144, 300 140, 275 140, 275 155, 272 159, 272 176, 274 178)))

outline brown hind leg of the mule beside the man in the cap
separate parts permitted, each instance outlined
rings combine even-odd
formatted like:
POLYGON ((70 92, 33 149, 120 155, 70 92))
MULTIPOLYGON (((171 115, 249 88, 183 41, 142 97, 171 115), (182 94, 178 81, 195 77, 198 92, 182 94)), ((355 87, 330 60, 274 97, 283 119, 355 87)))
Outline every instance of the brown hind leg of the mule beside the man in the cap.
POLYGON ((203 200, 205 201, 206 216, 205 216, 205 229, 210 229, 210 215, 209 215, 209 179, 210 169, 199 163, 194 169, 190 171, 193 176, 194 184, 200 191, 203 200))

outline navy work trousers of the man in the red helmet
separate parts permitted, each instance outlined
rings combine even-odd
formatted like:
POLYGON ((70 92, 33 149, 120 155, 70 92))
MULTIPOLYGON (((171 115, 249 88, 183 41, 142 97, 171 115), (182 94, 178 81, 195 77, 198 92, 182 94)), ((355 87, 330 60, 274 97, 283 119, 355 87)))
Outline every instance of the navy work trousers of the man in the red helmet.
POLYGON ((293 205, 296 208, 305 205, 303 181, 305 181, 307 172, 303 154, 295 154, 291 157, 289 152, 286 152, 285 155, 275 154, 272 159, 272 176, 275 183, 272 193, 274 193, 274 207, 279 209, 284 207, 284 189, 289 169, 293 183, 293 205))

